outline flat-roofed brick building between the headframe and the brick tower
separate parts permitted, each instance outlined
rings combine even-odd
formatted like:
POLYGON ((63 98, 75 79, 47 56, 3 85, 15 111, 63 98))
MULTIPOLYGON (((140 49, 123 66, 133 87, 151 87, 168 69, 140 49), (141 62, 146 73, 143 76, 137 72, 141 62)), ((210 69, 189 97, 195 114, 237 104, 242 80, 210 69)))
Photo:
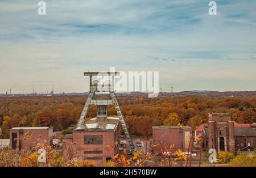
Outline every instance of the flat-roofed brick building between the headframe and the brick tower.
MULTIPOLYGON (((159 144, 159 141, 163 146, 174 145, 174 150, 181 149, 188 151, 189 138, 192 132, 191 127, 188 126, 153 126, 152 136, 153 144, 159 144)), ((161 150, 160 146, 154 147, 155 154, 159 154, 161 150)))

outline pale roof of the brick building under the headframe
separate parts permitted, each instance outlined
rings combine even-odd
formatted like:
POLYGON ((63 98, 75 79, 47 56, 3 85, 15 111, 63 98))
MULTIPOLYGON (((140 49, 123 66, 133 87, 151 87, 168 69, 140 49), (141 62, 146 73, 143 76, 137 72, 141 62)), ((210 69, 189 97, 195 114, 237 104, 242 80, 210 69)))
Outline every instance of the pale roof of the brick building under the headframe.
POLYGON ((117 128, 119 117, 108 117, 105 120, 98 120, 95 117, 82 124, 74 131, 86 131, 86 132, 113 132, 117 128))

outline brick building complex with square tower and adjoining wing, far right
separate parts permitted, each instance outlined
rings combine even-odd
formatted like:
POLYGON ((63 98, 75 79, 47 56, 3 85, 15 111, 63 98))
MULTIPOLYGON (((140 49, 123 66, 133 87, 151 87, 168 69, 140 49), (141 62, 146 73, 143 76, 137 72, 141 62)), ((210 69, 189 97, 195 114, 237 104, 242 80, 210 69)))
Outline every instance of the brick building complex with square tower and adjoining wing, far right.
POLYGON ((256 124, 237 124, 229 114, 209 114, 201 134, 209 149, 237 152, 256 148, 256 124))

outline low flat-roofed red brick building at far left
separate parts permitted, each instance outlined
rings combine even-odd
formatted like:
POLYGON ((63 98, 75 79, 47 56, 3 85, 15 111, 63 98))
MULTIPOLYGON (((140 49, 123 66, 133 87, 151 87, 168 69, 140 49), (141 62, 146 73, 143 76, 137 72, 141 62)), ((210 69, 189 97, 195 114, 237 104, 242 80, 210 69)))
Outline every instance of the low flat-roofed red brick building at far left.
POLYGON ((10 129, 10 148, 13 150, 31 149, 40 141, 52 146, 51 127, 16 127, 10 129))

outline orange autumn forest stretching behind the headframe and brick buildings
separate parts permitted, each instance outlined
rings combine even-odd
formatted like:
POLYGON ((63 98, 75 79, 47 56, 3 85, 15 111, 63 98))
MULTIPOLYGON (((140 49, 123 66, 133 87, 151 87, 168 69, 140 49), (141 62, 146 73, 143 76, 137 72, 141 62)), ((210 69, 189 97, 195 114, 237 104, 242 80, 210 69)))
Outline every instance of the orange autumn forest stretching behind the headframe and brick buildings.
MULTIPOLYGON (((207 120, 208 113, 230 113, 238 123, 256 122, 256 98, 240 96, 117 96, 130 134, 151 135, 152 126, 188 125, 192 128, 207 120)), ((17 96, 0 97, 0 138, 9 138, 14 126, 53 126, 60 131, 76 125, 86 96, 17 96)), ((108 115, 115 116, 114 107, 108 115)), ((96 116, 91 106, 88 118, 96 116)))

